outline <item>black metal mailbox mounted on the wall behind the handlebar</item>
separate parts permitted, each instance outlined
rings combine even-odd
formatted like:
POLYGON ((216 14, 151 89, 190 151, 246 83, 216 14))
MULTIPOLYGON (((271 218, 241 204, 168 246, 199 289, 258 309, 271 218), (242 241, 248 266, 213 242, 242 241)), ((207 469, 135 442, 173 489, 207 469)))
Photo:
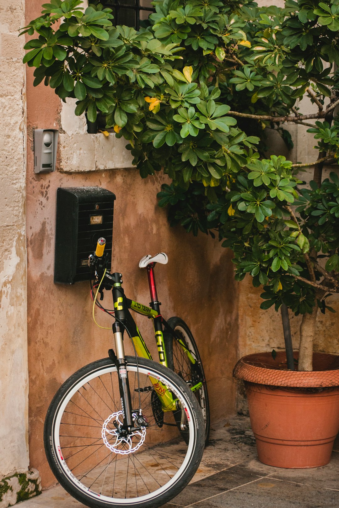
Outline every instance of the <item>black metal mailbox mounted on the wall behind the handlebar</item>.
POLYGON ((106 239, 111 268, 115 195, 101 187, 59 187, 56 194, 54 282, 89 280, 88 256, 106 239))

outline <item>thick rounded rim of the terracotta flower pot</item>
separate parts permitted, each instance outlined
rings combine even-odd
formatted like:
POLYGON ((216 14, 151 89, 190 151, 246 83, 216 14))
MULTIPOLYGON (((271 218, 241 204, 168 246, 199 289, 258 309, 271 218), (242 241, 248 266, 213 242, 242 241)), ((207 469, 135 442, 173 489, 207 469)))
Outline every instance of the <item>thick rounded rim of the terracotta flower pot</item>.
MULTIPOLYGON (((294 352, 298 358, 298 352, 294 352)), ((327 388, 339 386, 339 356, 329 353, 314 353, 313 359, 321 368, 312 371, 291 371, 274 368, 273 362, 286 361, 286 354, 280 351, 273 361, 271 353, 246 355, 237 362, 233 370, 236 379, 258 385, 293 388, 327 388), (254 365, 262 363, 262 366, 254 365), (265 363, 267 366, 265 366, 265 363), (334 367, 334 368, 333 368, 334 367)))

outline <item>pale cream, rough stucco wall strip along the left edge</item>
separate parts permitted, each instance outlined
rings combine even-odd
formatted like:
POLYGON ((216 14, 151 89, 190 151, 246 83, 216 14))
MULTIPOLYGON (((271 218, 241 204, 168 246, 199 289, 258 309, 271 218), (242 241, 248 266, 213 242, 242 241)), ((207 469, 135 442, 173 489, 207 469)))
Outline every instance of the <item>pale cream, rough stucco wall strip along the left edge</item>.
POLYGON ((24 2, 0 1, 0 478, 28 469, 24 2))

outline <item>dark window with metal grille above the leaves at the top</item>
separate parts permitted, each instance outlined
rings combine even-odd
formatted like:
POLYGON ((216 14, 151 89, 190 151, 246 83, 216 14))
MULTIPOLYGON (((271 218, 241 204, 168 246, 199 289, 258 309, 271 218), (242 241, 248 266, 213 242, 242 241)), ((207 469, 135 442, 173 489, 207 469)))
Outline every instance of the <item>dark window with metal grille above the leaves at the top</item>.
POLYGON ((134 26, 140 28, 140 21, 147 19, 150 12, 155 12, 150 6, 151 0, 99 0, 105 8, 112 9, 114 25, 134 26))

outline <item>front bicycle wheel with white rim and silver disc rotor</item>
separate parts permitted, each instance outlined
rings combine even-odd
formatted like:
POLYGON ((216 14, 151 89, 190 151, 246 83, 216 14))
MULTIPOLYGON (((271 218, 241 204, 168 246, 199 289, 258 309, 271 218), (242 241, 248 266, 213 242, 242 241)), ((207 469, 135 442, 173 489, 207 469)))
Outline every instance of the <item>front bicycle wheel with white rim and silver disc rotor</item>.
POLYGON ((139 407, 140 395, 142 414, 149 425, 144 427, 140 449, 137 447, 142 439, 136 433, 131 444, 123 443, 120 452, 116 452, 114 439, 108 437, 115 427, 106 422, 112 415, 118 418, 121 409, 116 367, 109 358, 88 364, 67 379, 56 392, 45 419, 45 452, 55 478, 75 499, 91 508, 160 506, 186 487, 203 453, 202 414, 186 384, 170 369, 138 358, 138 385, 136 359, 126 359, 133 409, 139 407), (188 416, 187 446, 182 446, 172 411, 165 411, 164 417, 173 421, 170 426, 153 423, 154 387, 150 375, 182 403, 188 416))

